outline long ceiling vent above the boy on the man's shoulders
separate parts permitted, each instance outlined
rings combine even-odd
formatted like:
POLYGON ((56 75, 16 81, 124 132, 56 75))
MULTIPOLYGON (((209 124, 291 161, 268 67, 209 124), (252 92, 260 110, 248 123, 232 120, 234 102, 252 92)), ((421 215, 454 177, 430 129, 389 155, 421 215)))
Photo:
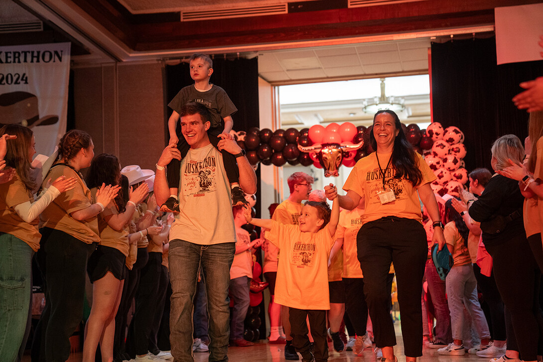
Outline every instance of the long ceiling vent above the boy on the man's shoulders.
POLYGON ((287 4, 262 5, 228 9, 182 11, 181 21, 216 20, 236 17, 287 14, 287 4))

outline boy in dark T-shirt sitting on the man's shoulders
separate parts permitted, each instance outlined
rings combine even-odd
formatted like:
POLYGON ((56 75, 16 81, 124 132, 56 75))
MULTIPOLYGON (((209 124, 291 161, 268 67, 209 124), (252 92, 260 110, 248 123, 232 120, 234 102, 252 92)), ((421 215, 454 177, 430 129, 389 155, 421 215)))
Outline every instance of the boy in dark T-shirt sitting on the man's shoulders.
MULTIPOLYGON (((182 88, 172 99, 168 106, 173 109, 172 116, 168 119, 169 144, 177 146, 181 152, 181 157, 185 157, 189 149, 188 143, 184 137, 181 137, 181 128, 179 124, 179 112, 181 108, 190 101, 195 101, 205 105, 211 111, 211 125, 207 131, 209 140, 215 148, 220 139, 232 139, 230 130, 232 129, 232 115, 237 112, 236 106, 232 103, 228 94, 223 88, 211 84, 209 79, 213 74, 213 61, 206 54, 195 53, 190 59, 191 78, 194 84, 182 88), (224 120, 224 128, 222 121, 224 120)), ((232 205, 247 204, 243 191, 239 188, 239 172, 237 170, 236 158, 245 154, 242 150, 238 155, 231 155, 223 151, 223 162, 226 175, 230 182, 232 205)), ((177 198, 179 187, 180 161, 172 160, 168 164, 168 186, 170 188, 170 197, 160 207, 161 211, 179 213, 179 201, 177 198)))

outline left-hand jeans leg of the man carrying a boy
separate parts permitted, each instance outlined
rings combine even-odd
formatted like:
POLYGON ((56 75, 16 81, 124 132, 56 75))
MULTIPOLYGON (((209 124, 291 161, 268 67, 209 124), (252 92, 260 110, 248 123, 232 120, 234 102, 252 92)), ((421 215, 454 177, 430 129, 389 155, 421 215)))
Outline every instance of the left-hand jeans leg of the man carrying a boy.
MULTIPOLYGON (((192 300, 200 264, 201 245, 172 240, 169 246, 169 272, 172 283, 170 344, 176 361, 193 361, 192 300)), ((227 342, 228 343, 228 342, 227 342)))

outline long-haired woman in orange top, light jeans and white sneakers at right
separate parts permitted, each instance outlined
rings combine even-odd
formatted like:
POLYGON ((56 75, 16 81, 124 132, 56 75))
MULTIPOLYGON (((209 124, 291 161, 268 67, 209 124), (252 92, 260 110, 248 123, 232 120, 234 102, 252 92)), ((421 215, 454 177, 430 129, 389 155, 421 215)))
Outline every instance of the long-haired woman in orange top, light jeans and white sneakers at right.
POLYGON ((451 331, 453 342, 438 350, 443 355, 463 355, 466 353, 464 339, 464 307, 468 311, 473 327, 481 339, 481 346, 488 346, 490 331, 481 304, 477 298, 477 280, 473 274, 471 257, 468 250, 468 226, 462 216, 452 207, 452 200, 445 202, 445 230, 443 231, 447 248, 454 265, 447 274, 447 303, 451 313, 451 331))

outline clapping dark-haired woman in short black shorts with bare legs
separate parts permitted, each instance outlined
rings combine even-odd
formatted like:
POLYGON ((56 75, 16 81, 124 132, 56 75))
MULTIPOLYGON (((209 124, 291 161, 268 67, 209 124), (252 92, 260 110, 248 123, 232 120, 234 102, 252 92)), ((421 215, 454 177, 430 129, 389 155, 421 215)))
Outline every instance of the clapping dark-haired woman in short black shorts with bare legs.
MULTIPOLYGON (((96 198, 98 188, 105 183, 120 185, 121 164, 118 158, 109 154, 94 157, 86 181, 93 198, 96 198)), ((87 266, 92 283, 92 307, 86 324, 83 362, 94 362, 98 343, 102 360, 113 360, 115 315, 121 301, 126 274, 124 264, 129 249, 128 222, 148 191, 145 182, 134 191, 130 189, 128 202, 119 192, 98 217, 100 242, 87 266)))

